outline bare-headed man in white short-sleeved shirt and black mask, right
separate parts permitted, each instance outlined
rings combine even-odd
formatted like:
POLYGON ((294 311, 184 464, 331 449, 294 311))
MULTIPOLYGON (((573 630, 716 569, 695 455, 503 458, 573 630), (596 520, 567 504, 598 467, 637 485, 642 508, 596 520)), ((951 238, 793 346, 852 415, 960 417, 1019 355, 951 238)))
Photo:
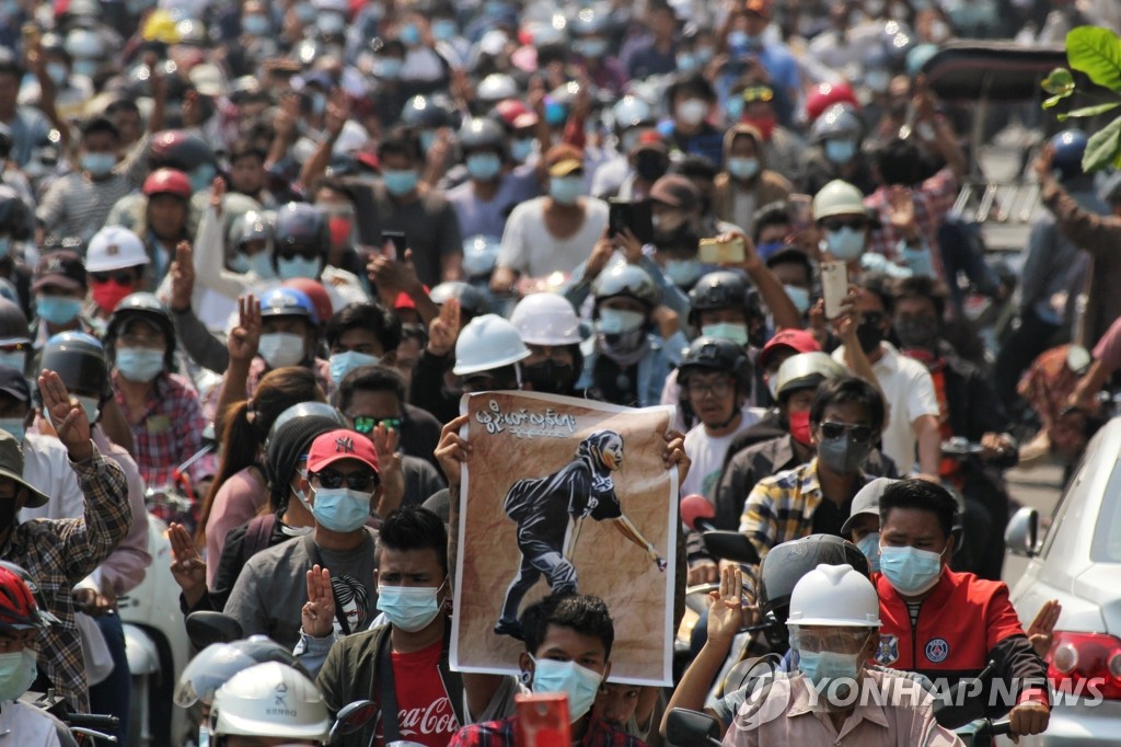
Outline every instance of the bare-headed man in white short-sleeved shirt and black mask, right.
MULTIPOLYGON (((883 452, 896 463, 900 474, 911 474, 917 468, 920 473, 937 480, 942 461, 938 398, 926 367, 900 354, 887 342, 893 310, 888 278, 864 276, 856 296, 855 311, 860 320, 856 344, 871 362, 877 384, 891 411, 891 422, 883 433, 883 452)), ((844 362, 845 347, 837 348, 833 358, 844 362)))

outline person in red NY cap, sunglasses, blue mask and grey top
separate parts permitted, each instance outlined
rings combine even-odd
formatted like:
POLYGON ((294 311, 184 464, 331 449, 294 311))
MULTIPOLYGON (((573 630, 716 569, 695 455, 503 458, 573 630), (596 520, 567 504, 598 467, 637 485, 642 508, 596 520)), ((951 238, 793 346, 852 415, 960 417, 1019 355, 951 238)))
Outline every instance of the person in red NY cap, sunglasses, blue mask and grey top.
POLYGON ((313 566, 331 569, 334 583, 326 582, 328 589, 337 585, 354 597, 348 609, 326 617, 328 629, 332 619, 342 635, 365 629, 378 598, 376 534, 367 522, 374 511, 388 514, 400 500, 399 495, 396 500, 385 496, 373 443, 354 431, 318 435, 306 470, 300 500, 311 509, 315 529, 250 557, 225 605, 225 614, 241 624, 245 635, 267 633, 285 647, 299 640, 300 608, 308 599, 313 566))

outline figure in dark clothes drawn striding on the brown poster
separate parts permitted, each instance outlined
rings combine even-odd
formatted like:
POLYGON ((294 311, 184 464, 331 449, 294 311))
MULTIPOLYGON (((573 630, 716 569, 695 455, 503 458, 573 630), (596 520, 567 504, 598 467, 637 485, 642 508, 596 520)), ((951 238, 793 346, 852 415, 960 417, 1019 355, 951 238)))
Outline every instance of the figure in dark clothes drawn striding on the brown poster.
POLYGON ((611 520, 620 534, 645 550, 658 570, 665 572, 665 559, 623 515, 619 504, 611 473, 622 462, 622 436, 614 431, 597 431, 576 446, 573 460, 559 471, 518 480, 507 491, 503 508, 518 525, 521 568, 507 589, 495 634, 521 639, 518 608, 543 574, 554 593, 576 592, 572 556, 589 516, 596 522, 611 520))

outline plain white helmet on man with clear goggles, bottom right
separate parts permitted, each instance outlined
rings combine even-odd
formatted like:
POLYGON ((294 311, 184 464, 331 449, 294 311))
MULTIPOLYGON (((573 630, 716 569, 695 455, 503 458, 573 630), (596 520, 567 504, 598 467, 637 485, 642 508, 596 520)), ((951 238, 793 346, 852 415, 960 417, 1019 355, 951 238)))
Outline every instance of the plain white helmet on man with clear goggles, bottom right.
POLYGON ((787 625, 880 626, 880 599, 852 565, 821 564, 794 585, 787 625))

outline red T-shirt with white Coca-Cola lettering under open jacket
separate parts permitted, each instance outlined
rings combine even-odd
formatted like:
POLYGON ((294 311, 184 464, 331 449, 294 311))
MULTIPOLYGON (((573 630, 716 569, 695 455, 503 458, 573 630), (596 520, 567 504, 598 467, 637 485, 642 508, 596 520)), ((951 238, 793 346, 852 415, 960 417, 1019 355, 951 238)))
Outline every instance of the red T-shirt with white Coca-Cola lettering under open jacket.
MULTIPOLYGON (((443 639, 411 654, 392 652, 397 725, 401 739, 428 747, 447 747, 460 722, 439 677, 443 639)), ((379 729, 377 743, 385 744, 379 729)))

